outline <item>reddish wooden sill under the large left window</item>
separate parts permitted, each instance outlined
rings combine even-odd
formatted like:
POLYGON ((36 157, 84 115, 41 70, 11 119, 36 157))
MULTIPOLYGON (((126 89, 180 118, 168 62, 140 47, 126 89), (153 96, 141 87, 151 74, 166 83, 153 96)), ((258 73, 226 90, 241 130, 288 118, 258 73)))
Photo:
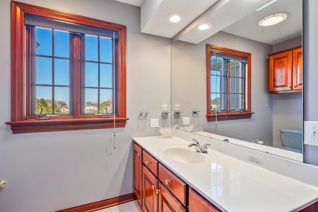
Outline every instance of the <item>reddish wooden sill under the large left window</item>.
MULTIPOLYGON (((129 118, 115 118, 115 128, 123 128, 129 118)), ((13 134, 114 128, 114 119, 26 120, 5 122, 13 134)))

